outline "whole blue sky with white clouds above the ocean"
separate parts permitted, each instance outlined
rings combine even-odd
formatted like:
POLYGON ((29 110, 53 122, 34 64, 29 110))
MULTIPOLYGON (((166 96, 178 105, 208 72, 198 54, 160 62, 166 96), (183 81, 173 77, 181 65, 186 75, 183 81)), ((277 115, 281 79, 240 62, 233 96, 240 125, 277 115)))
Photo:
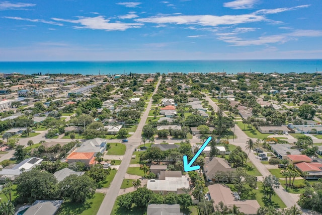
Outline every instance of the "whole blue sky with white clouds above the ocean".
POLYGON ((0 0, 0 61, 322 58, 320 0, 0 0))

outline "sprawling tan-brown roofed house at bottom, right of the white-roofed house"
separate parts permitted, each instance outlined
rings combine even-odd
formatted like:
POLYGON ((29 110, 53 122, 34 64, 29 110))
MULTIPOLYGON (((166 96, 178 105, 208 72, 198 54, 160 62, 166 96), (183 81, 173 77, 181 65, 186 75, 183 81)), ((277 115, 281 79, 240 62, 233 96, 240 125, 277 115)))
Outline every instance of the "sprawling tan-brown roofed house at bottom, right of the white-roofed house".
POLYGON ((256 199, 239 200, 239 195, 231 192, 228 186, 213 184, 208 186, 210 198, 214 200, 213 207, 222 201, 224 205, 236 205, 240 212, 246 215, 255 215, 260 208, 256 199))

